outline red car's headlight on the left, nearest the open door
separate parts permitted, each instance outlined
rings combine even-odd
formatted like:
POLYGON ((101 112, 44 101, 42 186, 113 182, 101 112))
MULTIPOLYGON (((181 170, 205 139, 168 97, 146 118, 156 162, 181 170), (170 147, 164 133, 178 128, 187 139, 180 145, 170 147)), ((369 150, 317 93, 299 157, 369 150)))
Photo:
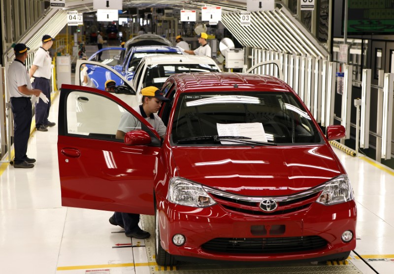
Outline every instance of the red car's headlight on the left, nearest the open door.
POLYGON ((200 184, 180 177, 170 179, 167 199, 183 206, 205 207, 216 204, 200 184))

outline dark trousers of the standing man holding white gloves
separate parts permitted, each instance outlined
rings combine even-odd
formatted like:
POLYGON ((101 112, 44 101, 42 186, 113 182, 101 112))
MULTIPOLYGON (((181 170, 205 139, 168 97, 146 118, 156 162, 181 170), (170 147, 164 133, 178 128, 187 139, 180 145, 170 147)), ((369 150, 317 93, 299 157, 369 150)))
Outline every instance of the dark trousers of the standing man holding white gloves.
POLYGON ((34 77, 32 84, 33 89, 39 89, 49 99, 48 103, 45 103, 41 99, 35 104, 35 127, 39 128, 40 125, 48 124, 49 108, 51 107, 51 86, 49 79, 44 77, 34 77))

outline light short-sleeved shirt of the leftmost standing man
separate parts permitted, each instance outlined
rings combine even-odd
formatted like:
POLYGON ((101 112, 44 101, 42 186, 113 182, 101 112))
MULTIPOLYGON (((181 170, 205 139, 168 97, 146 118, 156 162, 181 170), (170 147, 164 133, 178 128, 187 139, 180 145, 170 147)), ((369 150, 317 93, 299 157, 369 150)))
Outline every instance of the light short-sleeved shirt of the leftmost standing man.
POLYGON ((10 97, 28 97, 30 95, 26 95, 20 93, 18 87, 27 86, 28 89, 32 89, 32 84, 30 83, 30 77, 28 70, 26 69, 25 65, 15 59, 11 65, 8 67, 7 73, 7 86, 10 97))

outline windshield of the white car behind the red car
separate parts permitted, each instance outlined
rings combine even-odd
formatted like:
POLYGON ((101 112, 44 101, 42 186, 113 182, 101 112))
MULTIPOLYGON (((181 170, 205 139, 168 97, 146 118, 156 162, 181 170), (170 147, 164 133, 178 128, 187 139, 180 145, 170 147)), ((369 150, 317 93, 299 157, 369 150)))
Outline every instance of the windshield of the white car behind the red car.
POLYGON ((170 75, 183 72, 219 72, 219 70, 215 65, 209 64, 151 65, 145 71, 142 88, 155 86, 160 89, 170 75))

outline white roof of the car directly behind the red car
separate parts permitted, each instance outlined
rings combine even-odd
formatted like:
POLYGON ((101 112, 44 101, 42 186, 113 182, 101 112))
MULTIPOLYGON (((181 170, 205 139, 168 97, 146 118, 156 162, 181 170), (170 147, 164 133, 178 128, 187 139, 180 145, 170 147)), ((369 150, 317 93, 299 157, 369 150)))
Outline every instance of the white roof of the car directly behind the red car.
POLYGON ((216 65, 215 61, 208 56, 196 55, 149 55, 145 56, 141 63, 145 62, 149 65, 161 64, 209 64, 216 65))

